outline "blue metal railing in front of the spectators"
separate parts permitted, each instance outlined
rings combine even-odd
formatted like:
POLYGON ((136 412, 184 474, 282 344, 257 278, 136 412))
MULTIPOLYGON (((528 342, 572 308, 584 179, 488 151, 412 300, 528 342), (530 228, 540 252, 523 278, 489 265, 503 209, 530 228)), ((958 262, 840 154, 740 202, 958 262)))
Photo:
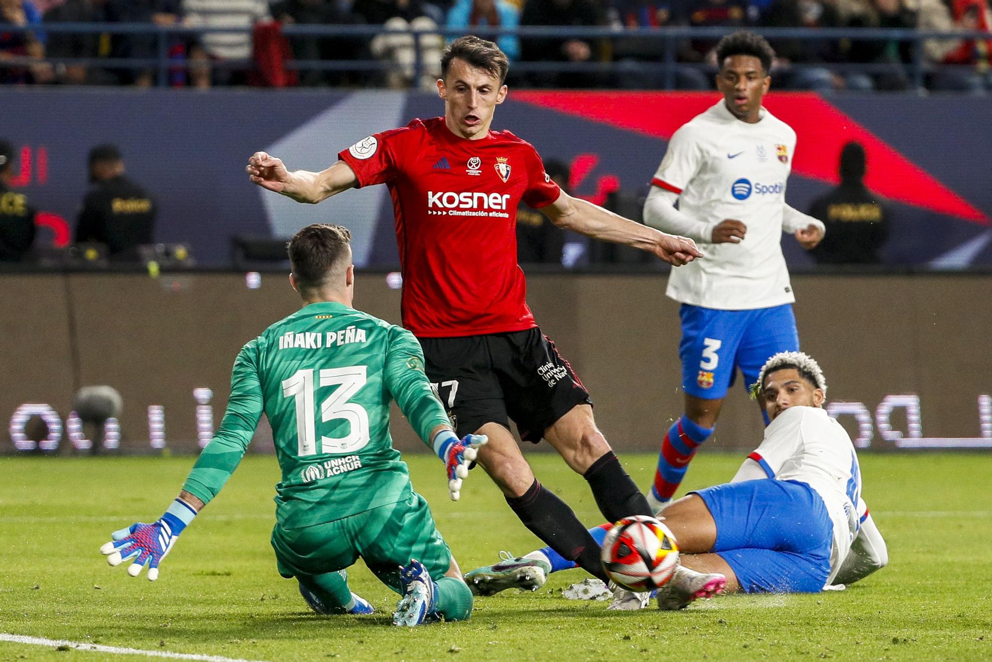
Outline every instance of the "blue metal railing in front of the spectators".
MULTIPOLYGON (((3 32, 8 33, 36 33, 46 34, 68 34, 68 35, 101 35, 111 34, 120 36, 154 37, 156 40, 155 58, 47 58, 43 62, 53 65, 64 66, 99 66, 106 68, 148 70, 154 69, 157 72, 157 82, 159 85, 169 84, 169 74, 172 70, 185 69, 191 66, 203 65, 195 63, 185 57, 176 58, 170 56, 170 45, 174 44, 178 38, 198 37, 207 34, 247 34, 251 35, 251 28, 206 28, 191 26, 158 26, 150 23, 47 23, 42 26, 11 26, 3 25, 3 32)), ((521 26, 519 28, 501 27, 475 27, 469 32, 480 37, 497 38, 500 36, 516 36, 526 38, 552 38, 552 39, 582 39, 582 40, 609 40, 617 43, 625 40, 653 40, 661 43, 663 56, 658 62, 640 62, 632 66, 643 71, 658 71, 658 66, 662 66, 663 84, 666 88, 675 87, 676 71, 679 66, 695 66, 707 69, 706 65, 687 64, 677 61, 679 45, 684 40, 702 39, 715 40, 733 32, 733 28, 624 28, 617 29, 611 27, 561 27, 561 26, 521 26)), ((924 54, 924 42, 930 39, 943 40, 992 40, 992 34, 981 31, 969 32, 937 32, 911 29, 881 29, 881 28, 753 28, 771 40, 777 39, 799 39, 804 41, 839 41, 852 40, 856 42, 897 42, 899 44, 909 44, 912 48, 912 59, 909 63, 829 63, 817 65, 793 65, 793 68, 803 69, 807 67, 826 67, 839 71, 862 71, 862 72, 882 72, 891 70, 893 65, 904 66, 913 86, 922 89, 925 78, 930 70, 940 67, 950 67, 945 65, 933 65, 927 62, 924 54)), ((287 25, 283 27, 283 34, 291 40, 294 38, 368 38, 372 39, 377 35, 389 34, 382 26, 343 26, 343 25, 287 25)), ((441 35, 446 39, 451 39, 465 34, 465 31, 449 31, 445 28, 424 31, 412 30, 410 34, 414 38, 415 61, 414 80, 420 79, 425 72, 426 66, 422 61, 420 44, 421 40, 429 37, 441 35)), ((39 61, 21 57, 0 60, 0 68, 30 66, 38 64, 39 61)), ((533 62, 518 61, 513 63, 513 70, 523 73, 537 72, 577 72, 577 73, 600 73, 610 74, 616 71, 616 64, 611 62, 533 62)), ((225 61, 210 62, 211 67, 220 68, 251 68, 254 63, 248 61, 225 61)), ((398 65, 388 61, 379 60, 291 60, 287 67, 295 70, 319 70, 319 71, 388 71, 396 70, 398 65)), ((958 66, 960 67, 960 66, 958 66)))

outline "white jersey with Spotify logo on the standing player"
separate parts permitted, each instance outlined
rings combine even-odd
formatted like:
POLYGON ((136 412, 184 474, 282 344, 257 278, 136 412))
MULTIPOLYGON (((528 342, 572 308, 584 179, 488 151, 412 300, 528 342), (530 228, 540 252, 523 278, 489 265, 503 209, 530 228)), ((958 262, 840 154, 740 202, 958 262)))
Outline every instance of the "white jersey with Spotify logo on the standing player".
POLYGON ((711 226, 735 218, 747 232, 740 243, 701 245, 703 259, 672 270, 669 297, 725 311, 796 301, 782 255, 795 153, 796 132, 788 124, 764 108, 757 123, 743 122, 722 100, 676 131, 653 184, 679 194, 689 218, 711 226))

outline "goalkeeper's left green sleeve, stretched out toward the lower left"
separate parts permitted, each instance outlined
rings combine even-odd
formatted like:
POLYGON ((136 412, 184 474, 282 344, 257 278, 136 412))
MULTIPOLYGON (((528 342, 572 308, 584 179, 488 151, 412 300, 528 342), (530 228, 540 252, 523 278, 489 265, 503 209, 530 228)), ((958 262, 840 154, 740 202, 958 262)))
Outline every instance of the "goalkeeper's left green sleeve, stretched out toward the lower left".
POLYGON ((262 383, 258 375, 258 341, 242 347, 231 371, 231 398, 220 430, 206 445, 186 477, 183 489, 207 503, 224 486, 245 454, 262 417, 262 383))

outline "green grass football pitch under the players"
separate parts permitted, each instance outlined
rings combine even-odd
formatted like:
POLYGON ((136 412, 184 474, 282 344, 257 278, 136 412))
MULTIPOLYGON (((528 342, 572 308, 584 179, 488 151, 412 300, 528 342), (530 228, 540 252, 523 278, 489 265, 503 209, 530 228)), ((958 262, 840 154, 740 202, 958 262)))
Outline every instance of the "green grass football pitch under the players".
MULTIPOLYGON (((655 457, 625 455, 638 484, 655 457)), ((702 453, 686 488, 729 479, 739 455, 702 453)), ((582 478, 532 454, 582 521, 601 521, 582 478)), ((442 465, 410 456, 414 485, 462 571, 539 546, 481 471, 447 499, 442 465)), ((184 532, 159 581, 110 568, 114 529, 152 521, 191 457, 0 458, 0 633, 248 660, 992 659, 992 456, 862 455, 864 496, 889 566, 844 592, 720 596, 684 611, 608 611, 563 599, 580 571, 534 594, 475 601, 467 622, 392 627, 397 596, 365 567, 352 590, 372 616, 319 616, 276 572, 273 457, 249 456, 184 532)), ((0 660, 137 659, 0 641, 0 660)))

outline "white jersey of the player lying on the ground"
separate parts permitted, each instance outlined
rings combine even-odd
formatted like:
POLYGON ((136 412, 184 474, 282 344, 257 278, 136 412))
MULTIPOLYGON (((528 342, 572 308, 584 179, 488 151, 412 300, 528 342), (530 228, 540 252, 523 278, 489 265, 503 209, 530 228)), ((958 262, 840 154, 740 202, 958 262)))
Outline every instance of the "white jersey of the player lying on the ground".
MULTIPOLYGON (((851 438, 826 411, 817 407, 790 407, 765 429, 761 446, 748 456, 776 480, 798 480, 813 488, 826 504, 833 524, 830 579, 851 549, 861 517, 861 468, 851 438)), ((747 462, 731 482, 756 477, 747 462)))

